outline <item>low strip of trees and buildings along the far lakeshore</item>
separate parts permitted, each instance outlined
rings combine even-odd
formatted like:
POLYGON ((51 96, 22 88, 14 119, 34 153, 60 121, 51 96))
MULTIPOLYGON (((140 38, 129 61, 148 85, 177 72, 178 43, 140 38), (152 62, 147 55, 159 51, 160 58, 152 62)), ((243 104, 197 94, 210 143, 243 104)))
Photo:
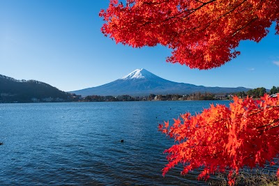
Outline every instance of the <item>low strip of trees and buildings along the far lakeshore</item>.
POLYGON ((178 101, 178 100, 232 100, 234 95, 239 98, 246 98, 247 96, 252 98, 260 98, 265 93, 279 93, 279 86, 273 86, 270 91, 266 91, 266 88, 255 88, 247 92, 239 93, 226 93, 226 94, 213 94, 213 93, 191 93, 186 95, 179 94, 167 94, 167 95, 155 95, 150 94, 148 96, 131 96, 131 95, 88 95, 82 98, 81 95, 75 95, 67 93, 66 98, 35 98, 31 95, 24 96, 26 99, 22 99, 21 95, 0 93, 0 103, 27 103, 27 102, 125 102, 125 101, 178 101), (29 99, 27 99, 29 98, 29 99))

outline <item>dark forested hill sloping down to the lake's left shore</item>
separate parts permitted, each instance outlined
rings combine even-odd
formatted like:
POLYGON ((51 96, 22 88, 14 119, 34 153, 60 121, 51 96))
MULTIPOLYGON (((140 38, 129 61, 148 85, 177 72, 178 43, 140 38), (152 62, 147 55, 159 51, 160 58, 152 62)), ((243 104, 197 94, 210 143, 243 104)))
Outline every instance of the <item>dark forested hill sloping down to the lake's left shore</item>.
POLYGON ((62 102, 71 98, 70 93, 43 82, 0 75, 0 102, 62 102))

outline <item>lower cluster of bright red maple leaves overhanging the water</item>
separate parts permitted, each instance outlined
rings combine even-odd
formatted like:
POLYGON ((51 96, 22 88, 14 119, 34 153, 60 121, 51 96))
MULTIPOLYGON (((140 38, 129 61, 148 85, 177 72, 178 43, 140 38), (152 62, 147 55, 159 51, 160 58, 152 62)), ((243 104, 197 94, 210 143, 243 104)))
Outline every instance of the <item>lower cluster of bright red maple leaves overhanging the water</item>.
POLYGON ((244 166, 278 164, 274 158, 279 157, 279 97, 235 97, 229 108, 212 104, 201 114, 182 114, 172 126, 165 122, 159 130, 176 141, 165 150, 168 164, 163 175, 183 164, 181 174, 201 168, 198 178, 205 180, 211 173, 229 171, 229 185, 234 185, 233 173, 244 166))

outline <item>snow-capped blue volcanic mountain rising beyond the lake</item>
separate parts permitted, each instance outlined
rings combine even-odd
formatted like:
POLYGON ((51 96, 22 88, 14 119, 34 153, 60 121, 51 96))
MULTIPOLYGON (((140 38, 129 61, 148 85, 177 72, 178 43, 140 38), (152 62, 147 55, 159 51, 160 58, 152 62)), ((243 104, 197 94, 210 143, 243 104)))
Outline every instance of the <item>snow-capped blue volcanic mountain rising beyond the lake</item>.
POLYGON ((190 94, 190 93, 236 93, 239 91, 248 91, 250 88, 237 87, 206 87, 196 86, 194 84, 176 83, 167 79, 163 79, 145 69, 137 69, 130 74, 117 79, 114 82, 96 86, 92 88, 85 88, 78 91, 71 91, 77 95, 132 95, 144 96, 155 94, 190 94))

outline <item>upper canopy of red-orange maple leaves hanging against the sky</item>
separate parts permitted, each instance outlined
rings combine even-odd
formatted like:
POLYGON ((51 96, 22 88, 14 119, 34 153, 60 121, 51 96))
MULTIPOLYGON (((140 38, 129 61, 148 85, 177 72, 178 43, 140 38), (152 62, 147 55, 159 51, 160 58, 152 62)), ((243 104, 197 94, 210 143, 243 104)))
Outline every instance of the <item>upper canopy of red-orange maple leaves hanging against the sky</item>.
POLYGON ((259 42, 276 22, 279 0, 111 0, 101 31, 133 47, 164 45, 171 63, 216 68, 240 54, 241 40, 259 42))

